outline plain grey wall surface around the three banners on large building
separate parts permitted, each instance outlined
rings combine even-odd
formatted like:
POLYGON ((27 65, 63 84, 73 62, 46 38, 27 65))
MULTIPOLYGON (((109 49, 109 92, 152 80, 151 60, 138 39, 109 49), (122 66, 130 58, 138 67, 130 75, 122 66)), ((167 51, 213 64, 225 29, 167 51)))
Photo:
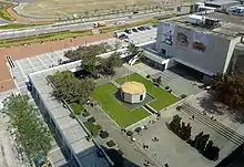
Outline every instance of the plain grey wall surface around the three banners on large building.
POLYGON ((209 43, 205 51, 200 52, 192 48, 194 30, 189 33, 190 44, 187 48, 184 49, 179 48, 179 45, 176 44, 177 30, 179 27, 175 25, 173 34, 173 45, 165 44, 162 42, 163 23, 159 23, 156 50, 159 51, 159 53, 162 53, 162 49, 165 49, 166 56, 172 56, 176 62, 193 67, 207 75, 213 75, 217 72, 223 73, 226 71, 234 46, 241 40, 230 40, 224 36, 210 33, 209 43))

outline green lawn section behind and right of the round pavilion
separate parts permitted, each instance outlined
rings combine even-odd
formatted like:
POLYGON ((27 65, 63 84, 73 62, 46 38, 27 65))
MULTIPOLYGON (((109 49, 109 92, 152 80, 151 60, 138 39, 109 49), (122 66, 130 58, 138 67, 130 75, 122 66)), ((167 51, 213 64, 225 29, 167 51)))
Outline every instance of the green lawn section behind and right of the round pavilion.
POLYGON ((149 80, 142 77, 141 75, 134 73, 125 77, 118 79, 116 82, 123 84, 126 81, 138 81, 144 84, 146 87, 146 92, 151 94, 155 101, 151 102, 149 105, 156 111, 161 111, 162 108, 177 102, 177 98, 172 94, 167 93, 165 90, 161 87, 154 86, 149 80))

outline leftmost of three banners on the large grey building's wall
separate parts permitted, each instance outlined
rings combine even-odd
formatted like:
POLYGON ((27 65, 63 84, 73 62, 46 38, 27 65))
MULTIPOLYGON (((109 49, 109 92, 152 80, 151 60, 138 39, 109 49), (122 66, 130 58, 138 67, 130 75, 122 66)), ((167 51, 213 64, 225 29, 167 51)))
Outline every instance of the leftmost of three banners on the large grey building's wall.
POLYGON ((170 23, 163 23, 162 42, 169 45, 173 45, 174 25, 170 23))

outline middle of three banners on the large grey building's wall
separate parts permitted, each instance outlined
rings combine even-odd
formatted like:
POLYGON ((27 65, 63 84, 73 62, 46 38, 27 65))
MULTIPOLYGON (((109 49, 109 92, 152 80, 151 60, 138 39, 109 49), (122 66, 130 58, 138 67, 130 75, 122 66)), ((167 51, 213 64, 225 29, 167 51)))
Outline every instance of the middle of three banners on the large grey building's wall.
POLYGON ((191 41, 191 30, 177 27, 176 44, 179 48, 187 49, 191 41))

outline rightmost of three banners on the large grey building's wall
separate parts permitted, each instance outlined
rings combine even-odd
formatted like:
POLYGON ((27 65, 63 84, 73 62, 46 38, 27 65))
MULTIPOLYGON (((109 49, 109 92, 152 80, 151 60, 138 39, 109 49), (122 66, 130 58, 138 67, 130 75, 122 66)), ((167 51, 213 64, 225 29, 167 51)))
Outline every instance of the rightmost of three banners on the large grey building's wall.
POLYGON ((207 44, 209 44, 209 34, 204 32, 195 31, 192 48, 196 51, 204 52, 207 44))

